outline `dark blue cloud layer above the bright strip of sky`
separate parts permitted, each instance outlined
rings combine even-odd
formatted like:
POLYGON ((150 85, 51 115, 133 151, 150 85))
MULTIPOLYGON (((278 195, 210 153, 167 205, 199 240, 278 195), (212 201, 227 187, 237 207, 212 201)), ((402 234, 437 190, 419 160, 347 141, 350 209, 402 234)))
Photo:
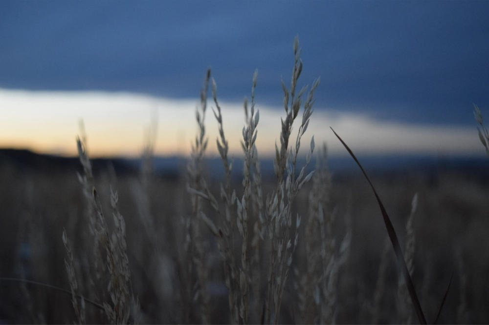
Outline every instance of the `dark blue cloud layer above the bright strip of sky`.
MULTIPOLYGON (((1 1, 0 87, 282 105, 292 42, 316 108, 475 124, 489 108, 489 1, 1 1)), ((67 108, 69 109, 69 108, 67 108)), ((193 117, 189 117, 193 118, 193 117)))

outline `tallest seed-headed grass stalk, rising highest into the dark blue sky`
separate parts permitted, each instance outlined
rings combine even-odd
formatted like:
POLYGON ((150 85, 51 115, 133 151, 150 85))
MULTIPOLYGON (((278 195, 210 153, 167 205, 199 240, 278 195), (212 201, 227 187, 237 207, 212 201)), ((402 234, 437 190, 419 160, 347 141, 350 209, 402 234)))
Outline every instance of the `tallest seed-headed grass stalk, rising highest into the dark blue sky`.
POLYGON ((277 145, 275 145, 274 171, 277 176, 277 189, 272 196, 273 199, 269 200, 267 204, 269 207, 268 232, 271 241, 271 250, 269 255, 270 264, 268 272, 266 322, 270 323, 273 312, 275 324, 279 322, 283 291, 289 276, 292 255, 298 243, 298 227, 301 223, 301 218, 297 214, 295 220, 295 234, 291 234, 291 204, 300 188, 304 183, 311 179, 313 174, 312 171, 307 176, 304 175, 314 150, 314 137, 311 138, 310 150, 306 157, 306 165, 303 166, 297 177, 295 176, 295 170, 301 138, 307 130, 312 114, 314 91, 319 84, 319 79, 316 79, 313 82, 309 95, 304 103, 302 102, 302 96, 307 91, 308 86, 304 86, 296 96, 295 91, 303 68, 303 63, 300 59, 301 49, 299 48, 298 37, 294 40, 293 49, 294 68, 292 70, 290 91, 282 81, 282 88, 284 90, 284 108, 287 115, 285 121, 282 119, 280 150, 277 145), (304 107, 303 117, 301 125, 299 126, 295 147, 289 148, 292 125, 302 106, 304 107), (273 306, 273 308, 271 308, 271 306, 273 306))

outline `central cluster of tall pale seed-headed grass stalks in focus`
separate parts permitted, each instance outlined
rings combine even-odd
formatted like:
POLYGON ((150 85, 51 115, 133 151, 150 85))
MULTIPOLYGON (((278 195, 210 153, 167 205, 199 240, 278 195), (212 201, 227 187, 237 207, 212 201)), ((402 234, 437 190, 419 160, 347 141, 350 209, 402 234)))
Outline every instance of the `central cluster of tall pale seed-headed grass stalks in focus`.
MULTIPOLYGON (((289 277, 293 253, 298 244, 298 231, 301 217, 298 213, 293 215, 292 204, 299 190, 311 179, 312 171, 307 175, 306 170, 311 162, 314 150, 314 140, 311 139, 310 150, 307 155, 306 165, 296 175, 297 158, 299 154, 301 138, 305 134, 312 114, 313 95, 319 84, 319 79, 314 81, 305 102, 302 97, 307 91, 304 86, 299 93, 296 88, 303 63, 300 60, 299 41, 294 41, 294 68, 292 71, 290 89, 282 82, 284 89, 285 121, 282 119, 282 131, 280 134, 280 149, 276 147, 274 161, 277 184, 273 191, 267 194, 264 201, 261 186, 260 167, 258 164, 258 151, 255 145, 257 138, 257 126, 260 121, 260 112, 255 112, 255 88, 258 82, 258 71, 253 76, 251 88, 251 104, 244 102, 246 125, 243 127, 242 147, 244 151, 244 169, 241 198, 236 195, 237 190, 231 190, 230 173, 231 164, 228 161, 228 144, 223 132, 223 120, 221 107, 217 100, 217 85, 212 80, 213 99, 216 105, 214 116, 219 125, 220 138, 216 140, 219 153, 225 171, 225 184, 221 183, 222 206, 217 202, 209 190, 207 183, 199 173, 201 158, 207 145, 205 127, 203 124, 206 110, 206 91, 209 82, 210 70, 204 84, 201 95, 201 106, 197 111, 197 123, 200 134, 196 138, 193 154, 189 163, 189 187, 192 195, 194 209, 193 236, 190 240, 198 241, 201 238, 200 222, 207 225, 210 232, 219 242, 219 249, 223 258, 225 269, 225 283, 228 289, 228 301, 230 308, 230 321, 234 323, 248 324, 251 322, 280 322, 280 308, 289 277), (295 141, 295 146, 289 146, 290 135, 294 120, 300 109, 303 109, 302 121, 295 141), (200 209, 200 199, 207 200, 214 209, 217 218, 209 218, 200 209), (295 218, 294 218, 295 217, 295 218), (214 220, 213 220, 214 219, 214 220), (292 220, 294 219, 294 227, 292 220), (217 225, 216 225, 217 224, 217 225), (237 233, 235 231, 237 229, 237 233), (251 237, 253 231, 253 240, 251 237), (253 257, 253 259, 251 258, 253 257), (253 269, 251 266, 254 266, 253 269), (266 280, 263 281, 262 280, 266 280), (251 284, 254 284, 252 288, 251 284), (251 295, 254 290, 254 295, 251 295), (261 317, 253 311, 261 311, 261 317), (255 319, 250 319, 251 314, 255 319)), ((198 244, 201 248, 203 245, 198 244)), ((199 258, 197 259, 199 261, 199 258)), ((199 262, 198 265, 203 265, 199 262)), ((206 282, 205 270, 198 268, 200 288, 206 282)), ((204 306, 208 298, 202 297, 204 306)), ((205 321, 205 320, 204 320, 205 321)))

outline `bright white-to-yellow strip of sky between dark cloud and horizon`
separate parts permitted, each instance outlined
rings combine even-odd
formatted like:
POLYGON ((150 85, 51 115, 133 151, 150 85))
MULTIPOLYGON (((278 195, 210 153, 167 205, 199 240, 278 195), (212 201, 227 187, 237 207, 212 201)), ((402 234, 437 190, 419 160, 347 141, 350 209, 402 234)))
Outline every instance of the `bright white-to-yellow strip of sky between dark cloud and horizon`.
MULTIPOLYGON (((167 99, 131 93, 33 92, 0 89, 0 146, 30 148, 43 153, 76 155, 75 138, 83 119, 92 156, 141 153, 144 132, 157 117, 156 153, 188 155, 198 130, 195 109, 198 99, 167 99)), ((242 103, 220 102, 224 132, 232 155, 241 156, 244 110, 242 103)), ((206 114, 208 152, 217 155, 217 122, 209 102, 206 114)), ((283 108, 257 105, 260 110, 257 147, 271 157, 280 143, 283 108)), ((357 109, 360 111, 360 109, 357 109)), ((300 123, 298 117, 297 123, 300 123)), ((402 124, 374 120, 366 114, 316 109, 304 135, 308 149, 312 135, 316 144, 327 142, 330 155, 345 155, 330 126, 357 154, 482 155, 474 127, 402 124)), ((297 131, 299 125, 294 126, 297 131)), ((294 142, 295 142, 295 134, 294 142)))

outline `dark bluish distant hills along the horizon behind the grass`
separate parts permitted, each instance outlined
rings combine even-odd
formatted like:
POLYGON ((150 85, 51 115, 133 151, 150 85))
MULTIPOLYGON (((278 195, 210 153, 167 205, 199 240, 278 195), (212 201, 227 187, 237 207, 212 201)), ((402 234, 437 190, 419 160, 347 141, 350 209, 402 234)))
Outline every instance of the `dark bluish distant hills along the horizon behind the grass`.
MULTIPOLYGON (((360 163, 372 176, 389 175, 422 175, 436 178, 440 174, 457 173, 464 177, 475 178, 481 182, 489 183, 489 158, 467 157, 436 157, 436 156, 365 156, 358 157, 360 163)), ((241 180, 243 177, 243 159, 233 159, 232 178, 241 180)), ((0 165, 10 163, 20 170, 32 171, 82 171, 78 157, 59 157, 54 155, 37 154, 22 149, 0 149, 0 165)), ((105 172, 112 166, 118 175, 136 175, 140 171, 141 160, 137 158, 110 158, 91 160, 95 174, 105 172)), ((224 177, 221 158, 208 158, 204 162, 205 170, 211 178, 224 177)), ((298 168, 302 168, 305 159, 298 160, 298 168)), ((155 157, 153 167, 156 177, 165 179, 178 179, 182 172, 186 172, 186 158, 155 157)), ((271 159, 260 161, 262 177, 264 180, 274 179, 273 161, 271 159)), ((333 178, 341 179, 347 175, 359 173, 359 168, 351 157, 332 157, 328 166, 333 178)), ((315 167, 315 160, 311 161, 309 170, 315 167)))

